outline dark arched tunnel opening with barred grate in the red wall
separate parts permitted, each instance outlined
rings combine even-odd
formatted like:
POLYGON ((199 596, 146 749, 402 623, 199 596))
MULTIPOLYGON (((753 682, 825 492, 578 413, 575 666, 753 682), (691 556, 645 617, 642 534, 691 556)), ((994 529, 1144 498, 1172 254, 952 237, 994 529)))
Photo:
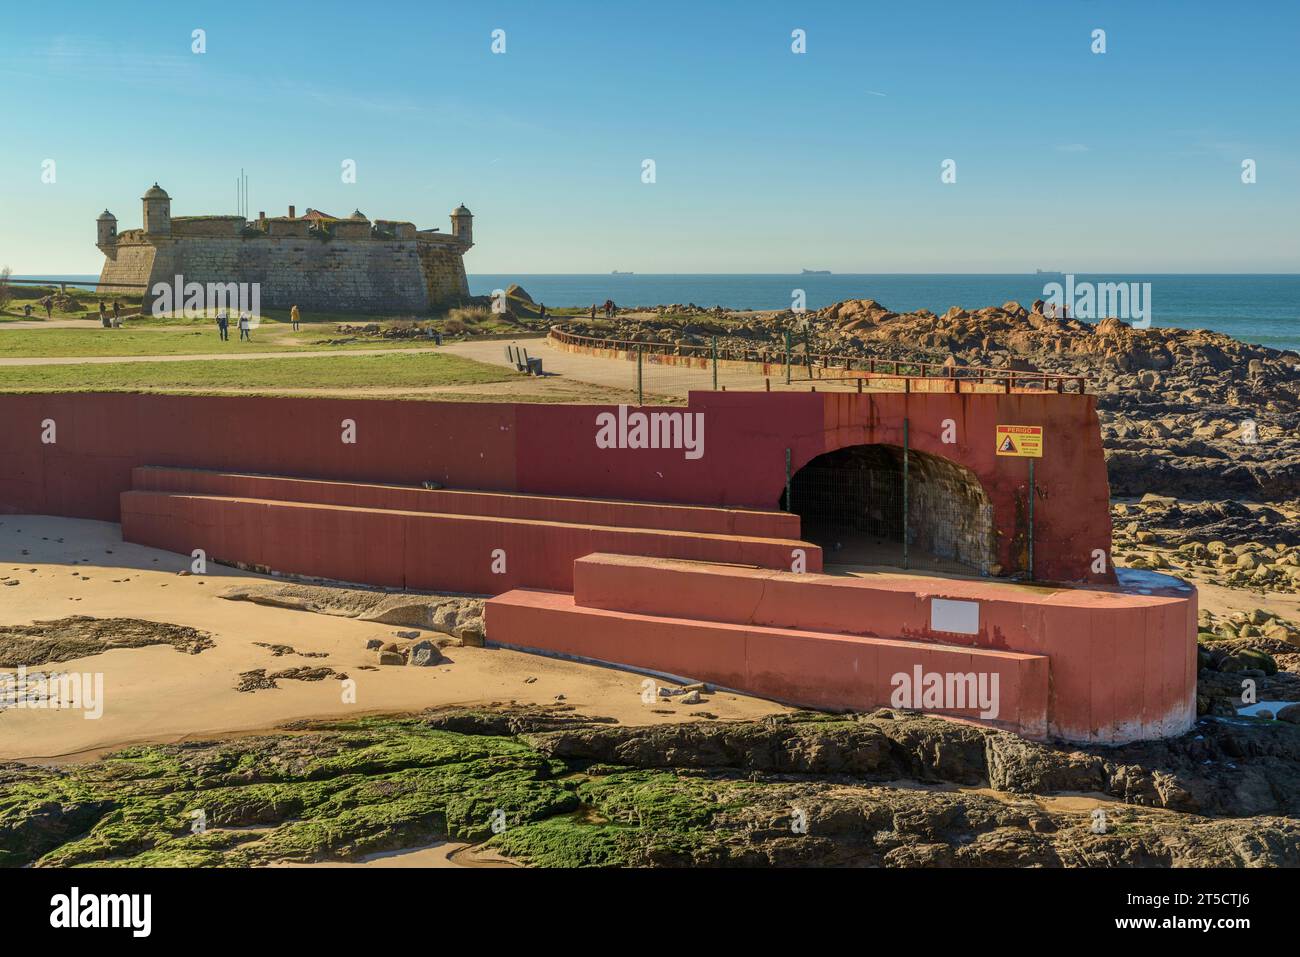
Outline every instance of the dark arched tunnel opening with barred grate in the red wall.
POLYGON ((796 472, 789 495, 781 507, 828 564, 902 567, 906 533, 910 568, 1000 571, 988 493, 971 469, 937 455, 909 450, 905 481, 900 446, 836 449, 796 472))

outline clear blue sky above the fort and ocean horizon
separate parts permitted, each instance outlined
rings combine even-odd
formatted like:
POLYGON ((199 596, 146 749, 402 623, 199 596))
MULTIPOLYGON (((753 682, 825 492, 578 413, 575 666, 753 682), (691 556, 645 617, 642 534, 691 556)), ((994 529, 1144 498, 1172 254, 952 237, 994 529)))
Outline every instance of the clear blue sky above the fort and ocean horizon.
POLYGON ((240 168, 254 216, 463 202, 471 273, 1300 264, 1295 0, 183 7, 5 5, 0 265, 98 272, 105 207, 240 168))

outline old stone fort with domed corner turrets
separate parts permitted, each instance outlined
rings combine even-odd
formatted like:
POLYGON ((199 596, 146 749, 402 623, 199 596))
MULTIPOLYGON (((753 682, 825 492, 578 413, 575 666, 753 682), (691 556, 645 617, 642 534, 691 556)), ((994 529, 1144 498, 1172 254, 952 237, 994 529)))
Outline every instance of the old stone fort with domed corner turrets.
POLYGON ((451 211, 451 233, 402 220, 347 218, 308 209, 256 220, 243 216, 172 216, 157 183, 142 198, 144 225, 117 230, 108 209, 96 246, 108 257, 99 282, 147 287, 185 282, 259 283, 263 306, 333 312, 426 312, 469 298, 464 254, 473 246, 473 216, 451 211))

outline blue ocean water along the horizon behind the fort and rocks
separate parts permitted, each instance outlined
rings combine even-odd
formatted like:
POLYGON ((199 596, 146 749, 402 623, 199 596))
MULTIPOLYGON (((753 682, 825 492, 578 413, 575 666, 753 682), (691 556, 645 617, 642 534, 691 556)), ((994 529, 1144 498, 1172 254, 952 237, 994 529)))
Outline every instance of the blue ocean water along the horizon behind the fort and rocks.
MULTIPOLYGON (((96 276, 27 276, 94 282, 96 276)), ((1044 286, 1063 283, 1060 273, 1032 274, 471 274, 469 291, 490 295, 517 282, 536 302, 551 308, 590 306, 612 299, 619 306, 694 303, 750 309, 788 308, 794 290, 818 309, 842 299, 875 299, 896 312, 949 306, 968 309, 1015 299, 1028 306, 1048 298, 1044 286)), ((1153 326, 1213 329, 1245 342, 1300 351, 1300 274, 1075 274, 1083 282, 1149 282, 1153 326)))

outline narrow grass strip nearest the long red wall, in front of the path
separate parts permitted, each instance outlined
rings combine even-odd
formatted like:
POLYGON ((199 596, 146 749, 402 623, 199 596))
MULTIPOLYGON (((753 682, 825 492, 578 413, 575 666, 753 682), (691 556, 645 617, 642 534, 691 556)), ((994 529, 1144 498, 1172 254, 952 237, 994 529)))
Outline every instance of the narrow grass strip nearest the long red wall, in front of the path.
POLYGON ((150 389, 350 389, 477 385, 523 378, 504 367, 437 352, 335 355, 244 361, 78 363, 0 367, 0 391, 142 391, 150 389))

